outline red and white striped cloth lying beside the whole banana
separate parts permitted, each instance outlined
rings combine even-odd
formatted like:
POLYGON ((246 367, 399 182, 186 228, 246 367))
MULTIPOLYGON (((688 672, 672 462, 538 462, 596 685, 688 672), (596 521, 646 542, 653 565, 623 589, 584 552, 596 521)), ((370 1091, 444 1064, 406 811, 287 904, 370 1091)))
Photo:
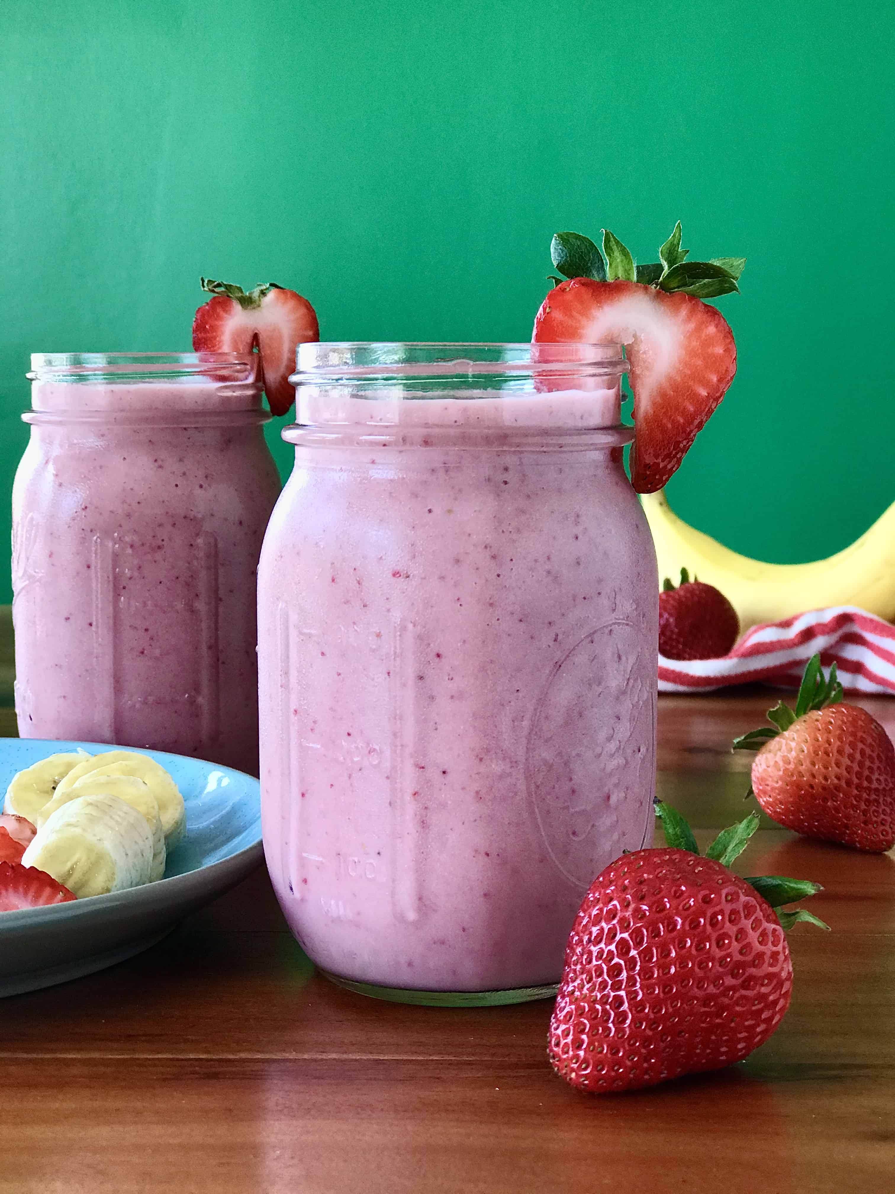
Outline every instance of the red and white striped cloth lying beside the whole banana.
POLYGON ((710 693, 753 681, 798 688, 804 665, 817 652, 825 667, 835 663, 846 693, 895 695, 895 626, 853 605, 753 626, 721 659, 660 656, 659 691, 710 693))

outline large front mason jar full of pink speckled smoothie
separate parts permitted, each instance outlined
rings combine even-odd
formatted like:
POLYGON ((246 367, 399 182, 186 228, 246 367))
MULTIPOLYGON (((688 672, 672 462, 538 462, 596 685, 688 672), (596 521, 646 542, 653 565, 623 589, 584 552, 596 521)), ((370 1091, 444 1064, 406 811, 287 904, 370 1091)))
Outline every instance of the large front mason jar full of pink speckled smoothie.
POLYGON ((267 866, 335 981, 551 995, 653 826, 656 561, 621 347, 303 344, 259 567, 267 866))

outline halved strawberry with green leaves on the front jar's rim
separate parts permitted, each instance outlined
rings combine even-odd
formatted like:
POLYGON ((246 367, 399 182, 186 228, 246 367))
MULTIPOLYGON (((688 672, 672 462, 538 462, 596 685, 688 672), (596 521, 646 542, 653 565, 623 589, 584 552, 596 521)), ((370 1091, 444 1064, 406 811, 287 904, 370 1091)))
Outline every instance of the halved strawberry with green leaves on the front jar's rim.
POLYGON ((609 229, 600 251, 579 233, 557 233, 554 264, 570 281, 544 298, 533 340, 624 344, 634 393, 631 484, 661 490, 736 373, 727 320, 703 298, 739 290, 743 258, 687 261, 680 222, 659 251, 660 261, 635 265, 609 229))

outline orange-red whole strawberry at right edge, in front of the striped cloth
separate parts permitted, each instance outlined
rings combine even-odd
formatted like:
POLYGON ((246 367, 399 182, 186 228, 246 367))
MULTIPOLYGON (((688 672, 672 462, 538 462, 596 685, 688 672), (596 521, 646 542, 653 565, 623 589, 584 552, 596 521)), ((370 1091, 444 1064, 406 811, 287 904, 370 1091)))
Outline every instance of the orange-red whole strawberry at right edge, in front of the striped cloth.
POLYGON ((835 664, 804 670, 795 710, 769 712, 734 750, 757 750, 752 790, 778 825, 806 837, 879 854, 895 845, 895 746, 864 709, 844 704, 835 664))

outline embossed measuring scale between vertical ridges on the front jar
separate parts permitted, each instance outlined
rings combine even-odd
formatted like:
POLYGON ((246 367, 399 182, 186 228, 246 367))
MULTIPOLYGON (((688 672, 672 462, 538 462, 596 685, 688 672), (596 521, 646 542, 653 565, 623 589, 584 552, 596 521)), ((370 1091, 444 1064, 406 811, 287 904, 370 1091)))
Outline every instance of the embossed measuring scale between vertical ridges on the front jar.
POLYGON ((335 919, 363 917, 385 885, 391 915, 413 921, 421 805, 413 627, 395 618, 325 633, 286 602, 277 617, 284 878, 296 899, 335 919))

